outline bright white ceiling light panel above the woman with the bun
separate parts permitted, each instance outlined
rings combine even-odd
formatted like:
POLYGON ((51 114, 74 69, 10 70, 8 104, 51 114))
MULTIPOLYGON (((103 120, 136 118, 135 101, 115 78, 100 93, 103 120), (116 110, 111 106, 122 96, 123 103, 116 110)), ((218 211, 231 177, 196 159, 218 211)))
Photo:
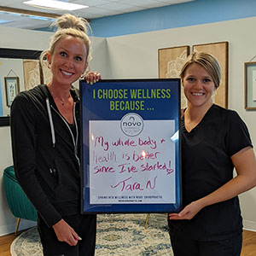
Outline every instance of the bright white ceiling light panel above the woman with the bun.
POLYGON ((75 9, 84 9, 88 8, 87 5, 77 4, 77 3, 66 3, 56 0, 30 0, 23 2, 28 5, 39 8, 48 8, 48 9, 66 9, 66 10, 75 10, 75 9))

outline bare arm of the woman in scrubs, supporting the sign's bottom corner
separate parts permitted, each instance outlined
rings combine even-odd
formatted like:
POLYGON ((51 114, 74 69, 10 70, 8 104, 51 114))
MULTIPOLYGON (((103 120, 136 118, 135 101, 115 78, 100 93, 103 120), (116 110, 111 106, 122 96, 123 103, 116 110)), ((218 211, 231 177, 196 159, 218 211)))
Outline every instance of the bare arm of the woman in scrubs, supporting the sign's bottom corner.
POLYGON ((170 219, 191 219, 202 208, 212 204, 227 201, 230 198, 253 189, 256 186, 256 160, 253 148, 242 148, 231 156, 236 168, 237 176, 225 183, 222 187, 197 201, 191 202, 183 211, 169 214, 170 219))

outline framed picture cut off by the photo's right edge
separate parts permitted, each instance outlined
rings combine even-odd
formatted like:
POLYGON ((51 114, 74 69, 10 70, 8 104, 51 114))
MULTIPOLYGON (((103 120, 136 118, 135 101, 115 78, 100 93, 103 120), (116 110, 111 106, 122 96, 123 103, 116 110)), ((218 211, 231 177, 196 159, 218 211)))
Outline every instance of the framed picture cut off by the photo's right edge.
POLYGON ((244 63, 245 109, 256 110, 256 62, 244 63))

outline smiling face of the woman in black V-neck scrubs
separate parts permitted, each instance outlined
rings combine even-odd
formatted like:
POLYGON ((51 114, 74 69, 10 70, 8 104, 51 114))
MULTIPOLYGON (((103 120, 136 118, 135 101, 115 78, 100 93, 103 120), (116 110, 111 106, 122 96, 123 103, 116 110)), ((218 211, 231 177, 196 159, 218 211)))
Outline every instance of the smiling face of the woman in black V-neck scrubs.
POLYGON ((193 63, 186 68, 182 79, 183 89, 191 107, 212 105, 215 84, 211 75, 200 64, 193 63))

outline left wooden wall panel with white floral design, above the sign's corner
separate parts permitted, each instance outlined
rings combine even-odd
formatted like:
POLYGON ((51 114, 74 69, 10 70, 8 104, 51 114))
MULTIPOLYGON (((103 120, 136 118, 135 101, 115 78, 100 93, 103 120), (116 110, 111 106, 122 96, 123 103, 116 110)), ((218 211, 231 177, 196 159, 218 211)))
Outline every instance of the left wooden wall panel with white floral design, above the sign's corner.
MULTIPOLYGON (((158 49, 159 79, 179 79, 181 69, 189 55, 189 45, 158 49)), ((181 88, 181 108, 186 108, 187 99, 181 88)))

